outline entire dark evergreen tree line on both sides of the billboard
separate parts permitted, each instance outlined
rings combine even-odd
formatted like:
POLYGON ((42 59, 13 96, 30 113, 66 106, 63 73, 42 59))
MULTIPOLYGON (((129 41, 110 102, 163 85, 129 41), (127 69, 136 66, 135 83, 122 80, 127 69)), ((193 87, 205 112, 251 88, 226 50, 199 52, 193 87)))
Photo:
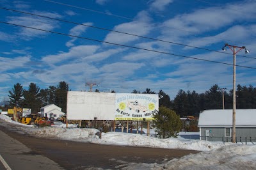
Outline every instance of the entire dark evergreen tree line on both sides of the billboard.
MULTIPOLYGON (((31 82, 28 90, 23 89, 22 85, 17 83, 9 91, 9 101, 4 108, 17 106, 31 108, 32 112, 38 112, 45 105, 55 104, 61 107, 63 112, 67 112, 67 91, 69 90, 65 81, 59 82, 57 86, 49 86, 49 88, 45 89, 40 89, 35 83, 31 82)), ((95 89, 95 92, 100 91, 95 89)), ((111 92, 115 93, 115 91, 111 92)), ((131 93, 158 94, 159 106, 175 111, 180 117, 198 116, 200 111, 207 109, 222 109, 223 97, 225 109, 232 109, 233 104, 232 90, 221 89, 217 84, 214 84, 205 93, 180 89, 173 100, 170 100, 170 96, 164 93, 163 90, 159 90, 156 93, 151 91, 150 88, 145 89, 143 92, 134 89, 131 93)), ((237 85, 236 95, 237 109, 256 109, 256 88, 252 85, 248 87, 237 85)))

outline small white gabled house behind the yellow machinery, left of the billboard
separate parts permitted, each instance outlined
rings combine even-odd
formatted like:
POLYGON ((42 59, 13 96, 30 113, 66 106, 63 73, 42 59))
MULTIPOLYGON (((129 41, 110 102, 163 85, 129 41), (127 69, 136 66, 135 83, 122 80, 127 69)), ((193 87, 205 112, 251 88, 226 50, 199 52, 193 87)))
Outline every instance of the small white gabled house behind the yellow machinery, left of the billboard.
POLYGON ((54 120, 56 120, 57 118, 64 116, 65 112, 61 112, 61 108, 57 105, 50 104, 41 108, 41 115, 43 117, 54 118, 54 120))

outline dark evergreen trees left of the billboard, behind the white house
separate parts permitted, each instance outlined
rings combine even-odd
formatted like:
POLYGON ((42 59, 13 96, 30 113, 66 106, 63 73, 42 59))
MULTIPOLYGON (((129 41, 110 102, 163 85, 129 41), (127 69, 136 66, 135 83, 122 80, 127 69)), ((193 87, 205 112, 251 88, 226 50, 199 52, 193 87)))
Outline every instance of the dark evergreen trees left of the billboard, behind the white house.
POLYGON ((31 108, 32 113, 40 112, 40 108, 45 105, 55 104, 61 107, 63 112, 67 111, 67 91, 68 84, 61 81, 57 86, 40 89, 35 83, 29 84, 28 90, 19 83, 14 84, 12 91, 9 91, 9 101, 5 107, 31 108))

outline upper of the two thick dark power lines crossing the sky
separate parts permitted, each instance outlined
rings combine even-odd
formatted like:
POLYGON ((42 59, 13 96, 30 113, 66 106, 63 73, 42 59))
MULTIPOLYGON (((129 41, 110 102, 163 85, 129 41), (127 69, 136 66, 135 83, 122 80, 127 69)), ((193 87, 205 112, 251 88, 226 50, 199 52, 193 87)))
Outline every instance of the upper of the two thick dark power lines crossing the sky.
MULTIPOLYGON (((48 0, 45 0, 45 1, 48 1, 48 0)), ((148 39, 148 40, 155 40, 155 41, 164 42, 164 43, 172 43, 172 44, 175 44, 175 45, 182 45, 184 47, 191 47, 191 48, 195 48, 195 49, 208 50, 208 51, 211 51, 211 52, 219 52, 219 53, 222 53, 222 54, 230 54, 228 52, 205 49, 205 48, 202 48, 202 47, 195 47, 195 46, 192 46, 192 45, 186 45, 186 44, 182 44, 182 43, 175 43, 175 42, 170 42, 170 41, 166 41, 166 40, 160 40, 160 39, 157 39, 157 38, 150 38, 150 37, 147 37, 147 36, 140 36, 140 35, 135 35, 135 34, 131 34, 131 33, 125 33, 125 32, 122 32, 122 31, 115 31, 113 29, 106 29, 104 27, 90 26, 88 24, 81 24, 81 23, 78 23, 78 22, 72 22, 72 21, 62 20, 62 19, 54 19, 52 17, 47 17, 47 16, 44 16, 44 15, 38 15, 38 14, 35 14, 35 13, 21 12, 19 10, 12 10, 12 9, 9 9, 9 8, 2 8, 2 7, 0 7, 0 9, 12 11, 12 12, 24 13, 24 14, 33 15, 33 16, 36 16, 36 17, 43 17, 43 18, 46 18, 46 19, 58 20, 58 21, 61 21, 61 22, 67 22, 67 23, 76 24, 76 25, 80 25, 80 26, 92 27, 92 28, 95 28, 95 29, 101 29, 101 30, 104 30, 104 31, 111 31, 111 32, 114 32, 114 33, 120 33, 120 34, 124 34, 124 35, 137 36, 139 38, 145 38, 145 39, 148 39)), ((237 56, 239 56, 239 55, 237 55, 237 56)), ((248 56, 241 56, 241 57, 256 59, 256 58, 248 57, 248 56)))

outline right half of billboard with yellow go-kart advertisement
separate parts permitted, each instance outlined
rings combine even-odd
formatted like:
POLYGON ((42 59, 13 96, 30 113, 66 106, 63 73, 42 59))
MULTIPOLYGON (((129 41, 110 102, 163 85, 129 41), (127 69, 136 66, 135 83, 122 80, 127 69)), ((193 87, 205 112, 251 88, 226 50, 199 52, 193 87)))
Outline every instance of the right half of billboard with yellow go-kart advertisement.
POLYGON ((115 120, 154 120, 159 111, 157 94, 116 93, 115 120))

